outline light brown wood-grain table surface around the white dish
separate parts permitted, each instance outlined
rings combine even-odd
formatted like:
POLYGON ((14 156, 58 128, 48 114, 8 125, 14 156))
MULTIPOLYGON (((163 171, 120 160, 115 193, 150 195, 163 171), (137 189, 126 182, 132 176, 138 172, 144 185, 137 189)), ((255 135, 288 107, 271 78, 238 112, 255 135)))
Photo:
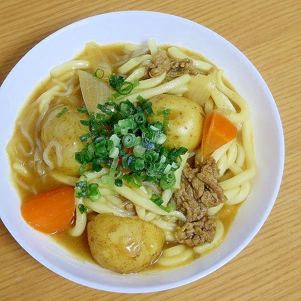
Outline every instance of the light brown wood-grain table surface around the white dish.
MULTIPOLYGON (((73 283, 28 255, 0 224, 0 300, 300 300, 301 2, 299 0, 2 0, 0 83, 35 44, 61 27, 120 10, 158 11, 198 22, 237 46, 267 82, 285 134, 285 169, 275 206, 232 261, 183 287, 146 294, 73 283)), ((2 108, 5 107, 1 99, 2 108)))

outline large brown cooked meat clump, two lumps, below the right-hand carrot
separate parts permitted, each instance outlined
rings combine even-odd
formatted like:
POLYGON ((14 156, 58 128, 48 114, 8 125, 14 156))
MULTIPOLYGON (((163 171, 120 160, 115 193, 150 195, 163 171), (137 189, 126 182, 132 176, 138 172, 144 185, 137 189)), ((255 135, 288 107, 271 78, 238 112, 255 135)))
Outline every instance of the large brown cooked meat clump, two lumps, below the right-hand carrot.
POLYGON ((215 221, 208 214, 208 208, 227 200, 217 181, 218 175, 213 158, 201 164, 196 162, 193 167, 186 163, 181 188, 173 196, 177 209, 187 218, 187 222, 176 229, 176 238, 180 243, 195 246, 212 241, 215 221))

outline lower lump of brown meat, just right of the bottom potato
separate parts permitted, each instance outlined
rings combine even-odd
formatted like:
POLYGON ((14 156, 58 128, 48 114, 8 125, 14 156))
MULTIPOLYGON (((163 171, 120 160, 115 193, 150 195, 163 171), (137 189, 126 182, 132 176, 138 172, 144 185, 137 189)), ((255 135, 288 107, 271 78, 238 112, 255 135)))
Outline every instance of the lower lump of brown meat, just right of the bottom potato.
POLYGON ((216 223, 212 216, 205 215, 197 222, 185 223, 177 227, 175 236, 179 243, 188 246, 199 246, 213 240, 216 223))

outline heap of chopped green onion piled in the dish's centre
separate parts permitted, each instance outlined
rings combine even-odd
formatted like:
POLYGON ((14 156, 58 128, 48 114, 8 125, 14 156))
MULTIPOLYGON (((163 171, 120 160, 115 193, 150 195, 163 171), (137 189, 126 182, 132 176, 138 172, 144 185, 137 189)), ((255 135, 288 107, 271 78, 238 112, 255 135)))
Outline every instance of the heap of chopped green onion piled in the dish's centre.
MULTIPOLYGON (((117 89, 126 88, 123 77, 111 76, 110 81, 117 89)), ((187 148, 165 147, 165 124, 148 122, 147 115, 153 114, 152 103, 142 97, 137 99, 141 102, 134 105, 128 100, 117 104, 110 98, 106 103, 98 104, 100 111, 97 114, 90 114, 89 120, 81 121, 87 126, 87 133, 81 140, 87 144, 75 154, 81 165, 80 173, 106 167, 109 173, 102 177, 102 183, 122 186, 125 181, 138 188, 143 181, 152 181, 162 189, 171 189, 176 183, 174 172, 180 167, 180 156, 187 148)), ((165 115, 168 116, 168 112, 165 115)), ((77 183, 77 197, 95 199, 94 194, 99 197, 98 188, 81 182, 77 183)))

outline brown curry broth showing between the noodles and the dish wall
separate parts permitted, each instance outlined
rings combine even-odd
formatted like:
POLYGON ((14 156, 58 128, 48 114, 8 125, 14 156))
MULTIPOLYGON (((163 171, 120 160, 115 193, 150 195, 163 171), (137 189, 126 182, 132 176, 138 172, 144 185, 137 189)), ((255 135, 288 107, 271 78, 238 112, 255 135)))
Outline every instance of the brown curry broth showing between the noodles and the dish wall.
MULTIPOLYGON (((167 47, 168 46, 166 46, 166 48, 167 47)), ((182 49, 182 51, 186 52, 188 55, 190 55, 193 58, 206 60, 200 54, 194 53, 192 51, 188 51, 186 49, 182 49)), ((124 44, 117 43, 117 44, 112 44, 112 45, 108 45, 108 46, 102 46, 101 48, 95 47, 94 50, 85 48, 75 59, 91 60, 91 61, 94 61, 95 64, 97 64, 100 54, 104 55, 107 58, 109 64, 111 64, 113 66, 113 69, 112 69, 113 73, 116 73, 115 69, 116 69, 117 63, 122 62, 129 57, 128 53, 126 51, 124 51, 124 44)), ((93 73, 95 70, 90 69, 87 71, 93 73)), ((70 96, 67 96, 67 97, 62 97, 62 96, 55 97, 51 101, 50 107, 53 107, 54 105, 56 105, 58 100, 60 100, 64 104, 72 103, 73 105, 83 106, 84 102, 83 102, 83 98, 82 98, 82 95, 81 95, 81 92, 79 89, 78 76, 74 77, 74 84, 75 84, 75 86, 77 86, 77 90, 74 93, 72 93, 70 96)), ((226 83, 226 84, 227 84, 227 86, 230 86, 229 83, 226 83)), ((27 169, 28 173, 29 173, 29 176, 27 176, 26 178, 20 177, 19 179, 13 179, 13 182, 19 193, 21 201, 24 201, 25 199, 27 199, 28 197, 33 195, 33 193, 29 192, 27 189, 27 187, 29 187, 29 186, 34 187, 33 190, 35 191, 35 193, 39 193, 42 191, 51 190, 51 189, 61 185, 59 182, 57 182, 52 177, 49 177, 47 174, 39 175, 33 168, 32 163, 27 162, 26 156, 24 156, 22 153, 18 152, 17 148, 15 147, 15 145, 17 145, 18 143, 22 143, 23 145, 25 145, 25 150, 27 152, 29 152, 30 145, 28 145, 27 140, 25 139, 24 135, 21 133, 20 124, 22 123, 22 120, 31 113, 30 112, 30 104, 34 103, 42 93, 49 90, 51 87, 53 87, 53 85, 54 85, 53 81, 51 80, 50 77, 48 77, 47 79, 43 80, 38 85, 38 87, 33 91, 32 95, 29 97, 28 101, 25 103, 24 107, 22 108, 22 111, 16 121, 12 139, 10 140, 9 144, 7 145, 7 152, 9 155, 11 167, 13 167, 13 165, 15 164, 14 158, 18 157, 19 164, 21 164, 25 169, 27 169), (20 185, 21 182, 24 185, 20 185)), ((39 113, 37 112, 36 114, 34 114, 33 119, 29 123, 28 129, 29 129, 30 134, 34 134, 35 126, 36 126, 36 122, 37 122, 38 118, 39 118, 39 113)), ((11 170, 13 170, 13 169, 11 169, 11 170)), ((229 228, 237 214, 238 208, 239 208, 239 205, 223 206, 223 208, 216 214, 224 225, 224 228, 225 228, 224 236, 229 231, 229 228)), ((53 234, 52 237, 56 242, 63 245, 68 251, 70 251, 72 254, 77 256, 79 259, 85 260, 85 261, 92 261, 92 262, 94 261, 94 259, 92 258, 92 255, 89 251, 86 231, 79 237, 70 236, 68 234, 68 231, 53 234)), ((167 246, 170 246, 170 244, 167 246)), ((147 270, 152 270, 152 269, 157 269, 157 268, 158 268, 158 266, 156 266, 156 263, 154 263, 147 270)), ((165 268, 160 267, 160 269, 165 269, 165 268)))

